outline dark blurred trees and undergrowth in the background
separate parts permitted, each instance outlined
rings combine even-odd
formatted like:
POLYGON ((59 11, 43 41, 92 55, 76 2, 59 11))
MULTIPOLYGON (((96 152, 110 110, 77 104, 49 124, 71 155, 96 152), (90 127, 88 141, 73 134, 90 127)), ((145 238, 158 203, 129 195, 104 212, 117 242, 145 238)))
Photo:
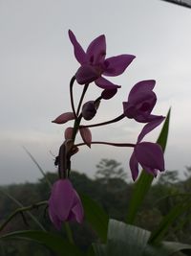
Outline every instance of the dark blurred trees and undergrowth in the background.
MULTIPOLYGON (((166 171, 167 174, 167 171, 166 171)), ((144 204, 138 211, 136 224, 140 227, 154 230, 161 221, 162 217, 169 213, 170 209, 180 203, 182 199, 186 199, 191 195, 191 178, 189 169, 186 171, 187 178, 184 181, 177 179, 176 173, 164 175, 159 178, 159 182, 152 186, 149 194, 144 200, 144 204), (176 179, 174 179, 176 177, 176 179), (162 182, 161 182, 162 180, 162 182)), ((55 174, 47 174, 51 182, 57 178, 55 174)), ((104 175, 102 176, 104 178, 104 175)), ((107 182, 102 182, 99 178, 91 179, 87 175, 76 172, 71 173, 71 179, 74 188, 79 194, 85 194, 90 198, 95 199, 100 206, 106 210, 111 218, 124 221, 128 202, 133 191, 133 184, 127 183, 118 176, 113 176, 107 179, 107 182)), ((46 183, 45 178, 39 182, 32 184, 20 184, 1 187, 14 198, 17 198, 25 206, 30 205, 39 200, 48 199, 50 196, 50 188, 46 183)), ((0 194, 0 216, 1 222, 5 220, 11 211, 15 210, 17 205, 10 198, 0 194)), ((32 210, 32 214, 38 218, 48 231, 56 230, 48 218, 45 207, 32 210)), ((32 219, 25 214, 26 223, 21 216, 15 217, 6 228, 1 231, 2 234, 16 230, 39 229, 32 219)), ((175 220, 169 231, 165 235, 165 240, 179 241, 183 244, 191 244, 191 211, 183 213, 180 218, 175 220)), ((90 244, 97 242, 97 236, 88 221, 84 221, 83 225, 73 223, 71 225, 74 241, 83 250, 86 250, 90 244)), ((66 238, 65 230, 61 231, 61 236, 66 238)), ((33 242, 19 241, 1 241, 0 255, 15 256, 15 255, 37 255, 37 256, 53 256, 47 248, 33 242)))

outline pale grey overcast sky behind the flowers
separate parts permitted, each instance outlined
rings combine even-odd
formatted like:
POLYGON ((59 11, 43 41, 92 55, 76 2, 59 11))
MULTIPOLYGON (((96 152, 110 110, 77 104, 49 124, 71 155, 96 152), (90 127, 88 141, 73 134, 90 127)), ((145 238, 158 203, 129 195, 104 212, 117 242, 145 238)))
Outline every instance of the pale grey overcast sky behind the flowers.
MULTIPOLYGON (((153 113, 166 115, 172 107, 165 168, 183 176, 185 167, 191 166, 190 28, 190 9, 160 0, 0 0, 0 184, 41 177, 23 147, 44 171, 56 172, 54 156, 65 128, 73 123, 60 126, 52 120, 71 111, 69 82, 79 66, 69 29, 84 49, 104 34, 107 57, 137 57, 121 76, 112 78, 121 88, 113 99, 101 103, 94 122, 121 114, 122 102, 138 81, 157 81, 153 113)), ((75 84, 75 100, 81 88, 75 84)), ((86 100, 99 94, 93 83, 86 100)), ((93 140, 135 143, 141 128, 142 124, 125 119, 91 130, 93 140)), ((155 142, 160 128, 145 139, 155 142)), ((93 177, 101 158, 116 159, 130 176, 131 152, 83 147, 74 155, 72 167, 93 177)))

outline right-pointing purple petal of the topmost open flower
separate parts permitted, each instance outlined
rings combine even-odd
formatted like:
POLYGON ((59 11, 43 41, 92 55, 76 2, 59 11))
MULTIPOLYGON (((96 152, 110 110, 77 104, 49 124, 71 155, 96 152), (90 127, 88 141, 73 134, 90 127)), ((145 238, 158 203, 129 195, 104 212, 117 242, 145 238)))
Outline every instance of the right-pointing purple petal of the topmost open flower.
POLYGON ((112 58, 106 58, 104 61, 106 68, 103 75, 116 77, 122 74, 134 58, 136 57, 133 55, 119 55, 112 58))

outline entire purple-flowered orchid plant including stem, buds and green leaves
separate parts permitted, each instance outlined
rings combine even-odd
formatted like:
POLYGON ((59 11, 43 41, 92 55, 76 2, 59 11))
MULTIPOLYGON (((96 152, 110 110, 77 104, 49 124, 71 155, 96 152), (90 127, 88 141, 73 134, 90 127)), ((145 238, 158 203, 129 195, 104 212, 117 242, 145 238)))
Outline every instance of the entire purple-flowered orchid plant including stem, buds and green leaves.
MULTIPOLYGON (((79 67, 74 73, 69 86, 71 109, 69 108, 68 111, 61 113, 53 120, 53 123, 65 126, 65 124, 72 121, 73 125, 65 127, 64 139, 55 158, 58 177, 51 186, 50 198, 48 201, 37 204, 37 206, 47 205, 49 218, 55 230, 61 230, 63 224, 65 224, 68 240, 46 230, 18 231, 3 235, 1 238, 31 239, 45 244, 58 255, 67 256, 168 256, 184 248, 191 249, 189 244, 163 242, 167 228, 181 214, 181 210, 177 211, 173 208, 172 212, 160 222, 159 227, 152 232, 141 229, 134 224, 138 209, 154 177, 165 170, 163 152, 167 141, 170 111, 166 117, 153 113, 157 104, 157 95, 154 92, 156 81, 138 81, 131 88, 127 100, 124 99, 124 102, 120 104, 121 113, 117 117, 105 120, 102 123, 94 123, 94 118, 99 114, 101 102, 112 101, 121 87, 105 77, 121 75, 136 57, 130 54, 122 54, 106 58, 105 35, 96 37, 86 51, 84 51, 72 31, 69 31, 69 38, 74 47, 74 57, 79 62, 79 67), (98 97, 84 101, 87 90, 95 84, 100 90, 98 97), (74 101, 75 86, 81 86, 81 95, 78 102, 74 101), (123 119, 127 121, 128 119, 134 119, 135 122, 143 124, 143 128, 134 142, 94 140, 94 128, 108 126, 109 129, 109 125, 123 119), (162 122, 163 127, 157 143, 147 141, 145 136, 158 128, 162 122), (81 137, 80 143, 76 142, 78 135, 81 137), (78 195, 74 189, 71 181, 72 157, 80 152, 81 147, 91 148, 93 145, 130 148, 132 151, 129 159, 129 170, 132 180, 135 182, 135 189, 129 202, 126 222, 110 220, 107 213, 97 205, 96 201, 86 195, 78 195), (140 174, 139 167, 142 168, 140 174), (97 243, 85 252, 74 244, 70 229, 70 222, 75 221, 81 224, 84 220, 91 224, 98 238, 97 243)), ((32 206, 25 207, 22 212, 31 209, 32 206)), ((182 205, 183 210, 185 210, 184 205, 182 205)), ((11 218, 3 223, 2 229, 11 221, 11 218)))

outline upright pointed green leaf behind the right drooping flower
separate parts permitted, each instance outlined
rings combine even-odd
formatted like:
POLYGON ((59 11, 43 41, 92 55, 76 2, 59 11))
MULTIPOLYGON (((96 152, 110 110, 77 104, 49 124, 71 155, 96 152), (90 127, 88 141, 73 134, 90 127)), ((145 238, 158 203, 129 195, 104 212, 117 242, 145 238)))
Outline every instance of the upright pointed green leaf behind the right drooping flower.
MULTIPOLYGON (((170 109, 166 116, 163 127, 161 128, 159 138, 157 140, 157 143, 159 143, 163 151, 165 151, 165 148, 166 148, 168 130, 169 130, 169 121, 170 121, 170 109)), ((149 175, 142 170, 141 174, 138 177, 138 181, 135 183, 133 195, 130 200, 127 219, 126 219, 127 223, 132 224, 136 220, 138 209, 142 204, 144 198, 146 197, 151 187, 151 184, 153 182, 153 179, 154 179, 153 175, 149 175)))

